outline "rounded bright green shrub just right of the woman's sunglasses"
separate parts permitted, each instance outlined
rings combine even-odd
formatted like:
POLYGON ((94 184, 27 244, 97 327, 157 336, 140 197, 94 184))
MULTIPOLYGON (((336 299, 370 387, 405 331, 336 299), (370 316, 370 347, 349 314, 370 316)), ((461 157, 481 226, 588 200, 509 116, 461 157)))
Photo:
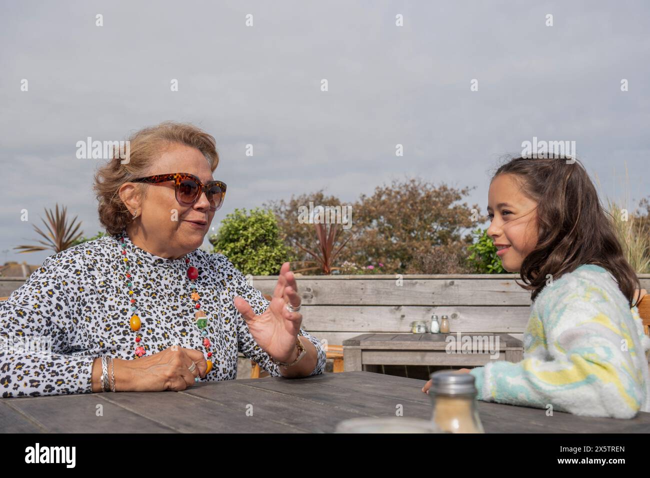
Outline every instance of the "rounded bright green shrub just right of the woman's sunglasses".
POLYGON ((226 215, 210 243, 213 252, 224 254, 242 274, 279 274, 281 265, 290 260, 274 213, 259 207, 226 215))

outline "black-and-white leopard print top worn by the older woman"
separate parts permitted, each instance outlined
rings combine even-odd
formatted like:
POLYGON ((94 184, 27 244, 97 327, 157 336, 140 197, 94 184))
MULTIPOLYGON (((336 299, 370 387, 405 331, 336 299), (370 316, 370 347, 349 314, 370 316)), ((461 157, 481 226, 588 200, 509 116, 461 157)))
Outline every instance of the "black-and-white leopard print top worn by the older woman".
MULTIPOLYGON (((194 325, 194 302, 185 259, 164 259, 135 246, 125 235, 133 281, 127 286, 118 236, 105 236, 68 248, 45 259, 8 300, 0 302, 0 392, 3 397, 91 393, 92 364, 102 355, 134 360, 136 333, 131 330, 131 297, 137 299, 145 356, 174 344, 204 351, 194 325), (129 289, 134 295, 128 294, 129 289)), ((256 314, 269 302, 248 285, 244 275, 222 254, 196 249, 186 256, 198 267, 196 291, 207 313, 207 338, 213 344, 213 369, 200 381, 233 380, 237 355, 254 360, 273 377, 278 366, 255 343, 235 308, 239 295, 256 314)), ((313 343, 318 362, 311 375, 322 373, 326 355, 313 343)))

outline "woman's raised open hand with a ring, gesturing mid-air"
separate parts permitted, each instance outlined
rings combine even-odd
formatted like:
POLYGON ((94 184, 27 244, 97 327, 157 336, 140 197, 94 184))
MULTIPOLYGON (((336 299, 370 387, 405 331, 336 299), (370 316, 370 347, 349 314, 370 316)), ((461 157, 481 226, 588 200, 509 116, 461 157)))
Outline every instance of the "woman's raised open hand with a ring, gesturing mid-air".
POLYGON ((283 263, 271 303, 260 315, 255 315, 242 297, 235 297, 234 301, 257 345, 279 362, 292 362, 298 356, 296 337, 302 323, 302 314, 289 312, 286 307, 287 304, 293 308, 300 306, 296 278, 289 269, 289 263, 283 263))

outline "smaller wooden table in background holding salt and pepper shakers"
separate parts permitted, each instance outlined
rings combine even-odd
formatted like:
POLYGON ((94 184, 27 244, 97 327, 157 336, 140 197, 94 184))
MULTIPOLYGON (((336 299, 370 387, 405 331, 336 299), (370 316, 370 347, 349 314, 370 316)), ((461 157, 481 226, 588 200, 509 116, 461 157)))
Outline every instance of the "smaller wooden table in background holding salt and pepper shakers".
POLYGON ((343 341, 343 365, 346 372, 366 370, 367 365, 460 367, 485 365, 490 360, 519 362, 522 358, 522 341, 508 334, 363 334, 343 341), (447 341, 449 336, 454 338, 454 346, 451 347, 453 353, 446 350, 448 343, 451 343, 447 341), (464 337, 472 339, 472 353, 463 352, 463 340, 469 340, 463 339, 464 337), (496 352, 489 351, 497 350, 499 354, 495 358, 496 352))

